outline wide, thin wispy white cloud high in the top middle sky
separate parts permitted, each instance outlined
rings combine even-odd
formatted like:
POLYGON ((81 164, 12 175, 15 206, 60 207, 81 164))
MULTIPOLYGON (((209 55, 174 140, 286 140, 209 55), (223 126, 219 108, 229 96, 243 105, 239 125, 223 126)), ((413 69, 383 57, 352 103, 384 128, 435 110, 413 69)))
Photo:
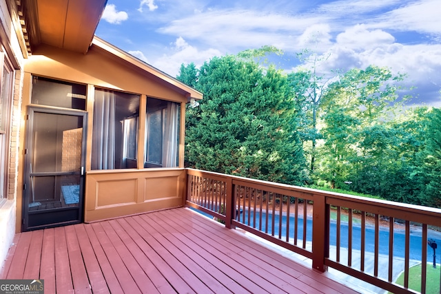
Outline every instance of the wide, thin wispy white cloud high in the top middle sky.
POLYGON ((206 10, 167 23, 158 32, 197 39, 225 52, 262 45, 286 49, 295 45, 294 36, 314 23, 325 22, 325 19, 323 16, 293 17, 252 10, 206 10))

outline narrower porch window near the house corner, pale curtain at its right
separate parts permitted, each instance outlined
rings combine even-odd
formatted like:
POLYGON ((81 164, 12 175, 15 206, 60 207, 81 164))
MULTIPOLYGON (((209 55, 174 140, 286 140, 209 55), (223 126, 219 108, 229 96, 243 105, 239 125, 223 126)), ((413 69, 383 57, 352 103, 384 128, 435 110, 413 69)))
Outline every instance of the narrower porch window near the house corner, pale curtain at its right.
POLYGON ((147 98, 145 167, 177 167, 181 105, 147 98))

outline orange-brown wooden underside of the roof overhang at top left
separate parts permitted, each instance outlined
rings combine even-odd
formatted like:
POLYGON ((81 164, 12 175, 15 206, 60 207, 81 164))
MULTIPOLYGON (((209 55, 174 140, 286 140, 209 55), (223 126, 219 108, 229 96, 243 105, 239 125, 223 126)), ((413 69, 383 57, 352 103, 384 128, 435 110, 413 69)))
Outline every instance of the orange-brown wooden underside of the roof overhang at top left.
POLYGON ((31 46, 41 43, 85 53, 107 0, 23 0, 31 46))

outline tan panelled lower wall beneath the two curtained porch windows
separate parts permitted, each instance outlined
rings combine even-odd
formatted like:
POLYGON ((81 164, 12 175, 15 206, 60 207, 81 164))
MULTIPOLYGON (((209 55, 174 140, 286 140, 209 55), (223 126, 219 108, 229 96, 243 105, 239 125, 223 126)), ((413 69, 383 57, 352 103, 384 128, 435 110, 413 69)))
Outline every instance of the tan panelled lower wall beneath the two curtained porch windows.
POLYGON ((90 171, 85 222, 183 206, 185 169, 90 171))

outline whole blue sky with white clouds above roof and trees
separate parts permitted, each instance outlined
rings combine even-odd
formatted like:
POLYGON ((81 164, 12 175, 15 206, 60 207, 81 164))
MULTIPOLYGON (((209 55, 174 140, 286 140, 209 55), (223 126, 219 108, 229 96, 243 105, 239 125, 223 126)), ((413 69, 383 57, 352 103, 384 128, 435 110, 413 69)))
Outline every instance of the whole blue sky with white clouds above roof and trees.
POLYGON ((286 72, 296 53, 326 56, 320 72, 390 67, 412 103, 441 107, 441 0, 108 0, 96 35, 176 76, 182 63, 274 45, 286 72))

